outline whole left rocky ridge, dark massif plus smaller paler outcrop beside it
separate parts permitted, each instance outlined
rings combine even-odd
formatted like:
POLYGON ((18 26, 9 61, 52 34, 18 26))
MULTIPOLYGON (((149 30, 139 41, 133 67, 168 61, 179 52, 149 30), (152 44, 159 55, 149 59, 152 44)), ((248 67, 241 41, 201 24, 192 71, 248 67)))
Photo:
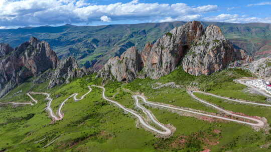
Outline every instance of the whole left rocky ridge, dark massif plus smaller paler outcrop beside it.
POLYGON ((0 97, 32 76, 34 83, 50 79, 48 87, 52 88, 86 74, 74 58, 59 61, 49 43, 35 37, 15 49, 1 43, 0 58, 0 97))

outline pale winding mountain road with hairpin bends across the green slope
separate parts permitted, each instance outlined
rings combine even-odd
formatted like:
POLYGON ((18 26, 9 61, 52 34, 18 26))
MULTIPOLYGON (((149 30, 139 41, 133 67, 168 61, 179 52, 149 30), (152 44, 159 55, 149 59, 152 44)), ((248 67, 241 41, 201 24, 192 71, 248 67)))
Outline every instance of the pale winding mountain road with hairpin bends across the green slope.
MULTIPOLYGON (((242 83, 242 84, 245 84, 246 83, 243 83, 241 80, 237 80, 238 82, 242 83)), ((149 130, 152 130, 154 132, 157 132, 159 134, 163 134, 163 135, 171 135, 172 134, 172 130, 166 126, 165 124, 159 122, 155 115, 152 113, 152 111, 150 111, 149 109, 147 109, 146 107, 144 107, 143 105, 140 104, 140 99, 145 103, 145 104, 149 104, 149 105, 154 105, 154 106, 158 106, 158 107, 163 107, 163 108, 168 108, 168 109, 173 109, 173 110, 177 110, 177 111, 184 111, 184 112, 190 112, 190 113, 193 113, 193 114, 197 114, 197 115, 204 115, 204 116, 208 116, 208 117, 214 117, 214 118, 219 118, 219 119, 224 119, 224 120, 229 120, 229 121, 233 121, 233 122, 237 122, 237 123, 242 123, 242 124, 248 124, 248 125, 251 125, 251 126, 257 126, 257 127, 264 127, 265 125, 265 122, 260 120, 260 119, 256 119, 256 118, 252 118, 252 117, 249 117, 249 116, 243 116, 243 115, 238 115, 238 114, 234 114, 232 112, 229 112, 221 107, 218 107, 217 105, 215 104, 212 104, 210 102, 207 102, 197 96, 194 95, 194 92, 199 92, 199 93, 203 93, 203 94, 206 94, 206 95, 211 95, 211 96, 214 96, 214 97, 218 97, 218 98, 223 98, 223 99, 227 99, 227 100, 231 100, 231 101, 236 101, 236 102, 239 102, 239 103, 245 103, 245 104, 254 104, 254 105, 261 105, 261 106, 268 106, 270 107, 271 104, 263 104, 263 103, 256 103, 256 102, 251 102, 251 101, 243 101, 243 100, 238 100, 238 99, 231 99, 229 97, 223 97, 223 96, 219 96, 219 95, 215 95, 215 94, 212 94, 212 93, 208 93, 208 92, 203 92, 203 91, 190 91, 188 92, 194 99, 200 101, 201 103, 204 103, 206 105, 209 105, 215 109, 217 109, 218 111, 221 111, 225 114, 228 114, 228 115, 232 115, 232 116, 235 116, 235 117, 239 117, 239 118, 243 118, 243 119, 247 119, 247 120, 250 120, 249 122, 247 121, 244 121, 244 120, 238 120, 238 119, 232 119, 232 118, 228 118, 228 117, 223 117, 223 116, 217 116, 217 115, 212 115, 212 114, 207 114, 207 113, 203 113, 203 112, 198 112, 198 111, 194 111, 194 110, 189 110, 189 109, 185 109, 185 108, 182 108, 182 107, 176 107, 174 105, 171 105, 171 104, 164 104, 164 103, 158 103, 158 102, 151 102, 151 101, 148 101, 144 96, 142 95, 133 95, 133 99, 135 100, 135 105, 140 108, 149 118, 152 122, 154 122, 156 125, 158 125, 160 128, 155 128, 154 126, 150 125, 146 119, 139 113, 131 110, 131 109, 128 109, 126 108, 125 106, 123 106, 122 104, 118 103, 117 101, 114 101, 112 99, 109 99, 105 96, 105 88, 103 86, 98 86, 98 85, 91 85, 91 86, 94 86, 94 87, 99 87, 99 88, 102 88, 102 97, 117 105, 118 107, 120 107, 121 109, 123 109, 124 111, 126 112, 129 112, 131 113, 132 115, 134 115, 135 117, 137 117, 140 121, 140 123, 148 128, 149 130), (255 123, 253 123, 255 122, 255 123)), ((247 85, 248 86, 248 85, 247 85)), ((251 86, 250 86, 251 87, 251 86)), ((50 97, 50 94, 49 93, 45 93, 45 92, 29 92, 27 93, 27 95, 32 99, 32 102, 6 102, 6 103, 0 103, 0 104, 8 104, 8 103, 11 103, 11 104, 30 104, 30 105, 34 105, 36 103, 38 103, 38 100, 36 100, 33 96, 31 96, 31 94, 43 94, 43 95, 46 95, 46 100, 49 100, 48 101, 48 104, 47 104, 47 107, 46 109, 49 111, 49 115, 50 117, 52 117, 52 119, 54 121, 56 120, 61 120, 63 119, 64 115, 61 113, 61 109, 62 107, 64 106, 65 102, 72 98, 75 100, 75 101, 79 101, 79 100, 82 100, 88 93, 90 93, 92 91, 92 88, 90 86, 88 86, 89 88, 89 91, 86 92, 84 95, 82 95, 80 98, 77 98, 77 95, 78 93, 73 93, 72 95, 70 95, 69 97, 67 97, 63 102, 61 102, 58 110, 57 110, 57 115, 54 114, 52 108, 51 108, 51 104, 52 104, 52 101, 53 99, 50 97)), ((268 94, 267 94, 268 95, 268 94)), ((267 96, 266 95, 266 96, 267 96)))

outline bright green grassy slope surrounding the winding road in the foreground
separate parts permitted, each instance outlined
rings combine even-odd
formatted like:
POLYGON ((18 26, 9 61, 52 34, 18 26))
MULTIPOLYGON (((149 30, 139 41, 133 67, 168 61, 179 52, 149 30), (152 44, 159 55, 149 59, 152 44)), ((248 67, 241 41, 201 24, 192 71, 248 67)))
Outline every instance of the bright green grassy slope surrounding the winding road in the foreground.
MULTIPOLYGON (((240 69, 226 69, 210 76, 192 76, 178 68, 169 75, 158 80, 135 79, 130 83, 107 81, 106 96, 120 102, 128 108, 134 108, 131 97, 133 92, 144 92, 150 101, 190 107, 198 110, 217 112, 192 99, 185 87, 198 87, 201 90, 215 94, 259 100, 264 97, 243 93, 245 86, 236 84, 232 79, 251 76, 240 69), (153 89, 156 82, 175 81, 182 88, 163 87, 153 89), (123 89, 124 88, 124 89, 123 89), (128 91, 129 89, 130 91, 128 91), (224 91, 227 90, 227 91, 224 91)), ((74 92, 79 96, 88 91, 87 85, 101 84, 100 78, 89 75, 74 79, 70 84, 64 84, 53 89, 46 89, 46 83, 33 85, 24 83, 10 92, 0 101, 30 100, 26 92, 46 91, 51 93, 52 108, 56 112, 59 104, 74 92), (20 91, 22 90, 22 91, 20 91)), ((45 111, 47 101, 43 95, 33 95, 39 100, 34 106, 12 105, 0 106, 0 150, 7 151, 270 151, 271 135, 263 130, 254 131, 250 126, 226 121, 197 119, 180 116, 167 109, 148 107, 157 119, 164 124, 172 124, 176 131, 170 138, 158 138, 153 133, 137 127, 137 120, 124 113, 118 107, 103 100, 101 89, 92 87, 93 91, 83 100, 68 100, 62 111, 63 120, 51 123, 45 111), (42 140, 43 139, 43 140, 42 140), (50 146, 44 147, 56 139, 50 146), (38 143, 35 141, 42 140, 38 143), (260 148, 265 145, 264 148, 260 148)), ((243 112, 248 115, 258 115, 271 120, 269 107, 232 104, 221 99, 196 94, 197 96, 218 104, 228 110, 243 112)))

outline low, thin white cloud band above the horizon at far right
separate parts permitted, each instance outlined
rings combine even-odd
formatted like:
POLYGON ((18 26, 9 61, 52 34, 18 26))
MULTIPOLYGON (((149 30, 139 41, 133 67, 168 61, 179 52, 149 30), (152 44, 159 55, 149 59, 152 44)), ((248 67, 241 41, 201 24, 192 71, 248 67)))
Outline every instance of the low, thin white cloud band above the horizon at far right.
POLYGON ((220 21, 220 22, 233 22, 233 23, 242 23, 242 22, 268 22, 271 23, 271 17, 259 18, 259 17, 249 17, 246 15, 239 14, 219 14, 217 16, 203 17, 203 20, 206 21, 220 21))

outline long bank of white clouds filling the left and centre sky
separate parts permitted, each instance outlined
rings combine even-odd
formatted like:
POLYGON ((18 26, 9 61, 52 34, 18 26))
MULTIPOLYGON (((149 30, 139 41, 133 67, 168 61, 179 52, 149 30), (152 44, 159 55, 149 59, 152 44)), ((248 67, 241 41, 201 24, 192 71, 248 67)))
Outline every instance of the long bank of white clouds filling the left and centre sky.
POLYGON ((194 7, 185 3, 143 3, 140 0, 108 5, 92 4, 87 0, 0 0, 0 26, 89 23, 111 18, 116 21, 189 19, 217 9, 217 5, 194 7))

